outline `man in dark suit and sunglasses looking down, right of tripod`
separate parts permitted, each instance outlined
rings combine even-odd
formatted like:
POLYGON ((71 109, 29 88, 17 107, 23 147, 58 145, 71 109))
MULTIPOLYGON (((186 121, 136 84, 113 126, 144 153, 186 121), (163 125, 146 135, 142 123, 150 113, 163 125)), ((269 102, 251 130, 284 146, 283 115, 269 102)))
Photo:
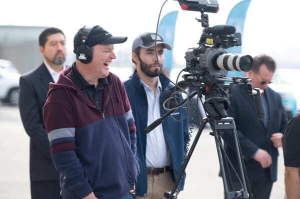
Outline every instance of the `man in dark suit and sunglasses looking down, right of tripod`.
MULTIPOLYGON (((282 130, 287 117, 278 93, 267 86, 275 72, 275 61, 267 55, 254 57, 254 66, 247 72, 252 87, 264 91, 262 101, 266 118, 259 121, 256 116, 253 96, 247 93, 246 85, 234 85, 230 98, 228 117, 236 124, 238 140, 245 163, 251 192, 254 199, 268 199, 272 184, 277 180, 278 147, 281 147, 282 130)), ((238 163, 231 133, 222 136, 224 148, 235 171, 238 163)), ((230 168, 234 191, 241 185, 230 168)))

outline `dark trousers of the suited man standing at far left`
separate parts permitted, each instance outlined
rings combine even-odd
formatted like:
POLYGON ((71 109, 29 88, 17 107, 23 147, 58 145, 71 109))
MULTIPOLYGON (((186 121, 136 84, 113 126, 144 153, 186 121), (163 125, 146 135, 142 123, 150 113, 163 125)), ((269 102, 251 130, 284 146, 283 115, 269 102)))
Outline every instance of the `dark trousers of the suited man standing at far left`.
POLYGON ((60 196, 59 180, 31 181, 31 199, 62 199, 60 196))

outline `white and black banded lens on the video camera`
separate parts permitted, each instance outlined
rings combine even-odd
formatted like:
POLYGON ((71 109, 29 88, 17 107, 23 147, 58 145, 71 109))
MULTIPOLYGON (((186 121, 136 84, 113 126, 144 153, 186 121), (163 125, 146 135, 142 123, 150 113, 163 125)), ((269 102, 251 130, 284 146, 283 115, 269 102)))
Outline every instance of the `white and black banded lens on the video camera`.
POLYGON ((219 54, 216 55, 214 67, 217 69, 247 72, 253 67, 253 58, 250 55, 219 54))

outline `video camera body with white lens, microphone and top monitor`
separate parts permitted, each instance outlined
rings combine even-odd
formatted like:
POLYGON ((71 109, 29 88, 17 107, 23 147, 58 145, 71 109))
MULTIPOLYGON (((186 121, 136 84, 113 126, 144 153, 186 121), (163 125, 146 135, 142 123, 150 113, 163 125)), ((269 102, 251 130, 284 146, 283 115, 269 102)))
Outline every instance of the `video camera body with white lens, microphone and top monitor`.
POLYGON ((235 33, 231 25, 208 27, 208 15, 204 12, 217 12, 216 0, 178 0, 184 10, 200 11, 203 28, 199 47, 189 48, 185 52, 186 70, 191 74, 202 75, 208 70, 213 77, 225 77, 231 71, 249 71, 253 67, 250 55, 229 54, 224 48, 241 45, 240 33, 235 33))

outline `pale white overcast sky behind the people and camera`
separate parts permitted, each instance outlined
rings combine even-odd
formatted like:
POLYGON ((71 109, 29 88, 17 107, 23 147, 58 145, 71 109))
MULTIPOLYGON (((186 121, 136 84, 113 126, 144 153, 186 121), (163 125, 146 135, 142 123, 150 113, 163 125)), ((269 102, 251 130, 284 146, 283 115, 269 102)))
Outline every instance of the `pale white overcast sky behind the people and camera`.
MULTIPOLYGON (((101 25, 113 35, 128 36, 115 48, 127 48, 134 37, 144 31, 155 31, 160 7, 164 0, 6 0, 1 2, 0 25, 55 26, 61 28, 72 50, 75 32, 84 25, 101 25)), ((240 0, 218 0, 218 13, 208 13, 209 24, 226 22, 231 8, 240 0)), ((288 3, 274 0, 251 0, 242 38, 243 53, 252 56, 268 53, 278 61, 299 62, 300 30, 296 0, 288 3), (296 22, 296 24, 294 23, 296 22)), ((184 62, 184 52, 196 47, 201 24, 194 18, 200 13, 183 11, 175 0, 168 0, 162 16, 179 10, 175 30, 173 56, 184 62), (178 58, 177 58, 178 57, 178 58)), ((162 17, 161 16, 161 17, 162 17)), ((160 18, 161 19, 161 18, 160 18)))

